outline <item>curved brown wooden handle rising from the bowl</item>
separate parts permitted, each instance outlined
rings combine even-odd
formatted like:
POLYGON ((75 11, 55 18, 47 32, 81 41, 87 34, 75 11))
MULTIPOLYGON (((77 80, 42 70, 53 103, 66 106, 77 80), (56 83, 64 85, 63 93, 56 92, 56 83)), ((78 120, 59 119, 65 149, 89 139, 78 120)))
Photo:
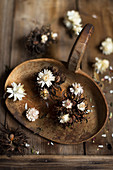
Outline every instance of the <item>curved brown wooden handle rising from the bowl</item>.
POLYGON ((80 35, 77 37, 70 55, 68 59, 68 69, 70 71, 78 71, 80 69, 80 63, 82 61, 82 57, 85 53, 85 49, 88 43, 88 40, 94 31, 94 27, 92 24, 86 24, 80 33, 80 35))

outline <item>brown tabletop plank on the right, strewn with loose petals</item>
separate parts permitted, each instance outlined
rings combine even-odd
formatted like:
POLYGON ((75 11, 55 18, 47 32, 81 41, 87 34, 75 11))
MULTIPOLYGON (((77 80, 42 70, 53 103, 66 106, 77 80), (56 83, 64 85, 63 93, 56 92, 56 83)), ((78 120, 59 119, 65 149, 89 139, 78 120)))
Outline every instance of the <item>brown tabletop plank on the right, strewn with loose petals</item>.
MULTIPOLYGON (((91 41, 88 45, 87 51, 85 53, 82 69, 88 73, 90 76, 93 76, 93 69, 91 63, 95 61, 95 57, 106 58, 110 61, 110 65, 113 66, 113 54, 109 56, 103 55, 99 51, 100 43, 106 37, 113 38, 113 1, 110 0, 79 0, 78 8, 83 19, 83 24, 92 23, 94 25, 95 31, 94 35, 91 38, 91 41), (93 18, 93 15, 96 15, 97 18, 93 18)), ((110 75, 110 72, 107 71, 105 74, 101 75, 110 75)), ((113 74, 111 74, 113 76, 113 74)), ((109 93, 110 89, 113 88, 113 82, 109 84, 104 82, 104 92, 107 102, 109 104, 110 112, 113 112, 113 107, 110 107, 110 103, 113 102, 113 95, 109 93)), ((101 106, 100 106, 101 107, 101 106)), ((113 149, 108 149, 107 144, 111 144, 113 147, 113 138, 111 134, 113 133, 113 119, 108 120, 106 127, 100 132, 95 139, 95 143, 91 141, 86 143, 86 154, 91 155, 112 155, 113 149), (106 134, 107 137, 103 138, 101 135, 106 134), (98 145, 103 145, 102 149, 98 148, 98 145)))

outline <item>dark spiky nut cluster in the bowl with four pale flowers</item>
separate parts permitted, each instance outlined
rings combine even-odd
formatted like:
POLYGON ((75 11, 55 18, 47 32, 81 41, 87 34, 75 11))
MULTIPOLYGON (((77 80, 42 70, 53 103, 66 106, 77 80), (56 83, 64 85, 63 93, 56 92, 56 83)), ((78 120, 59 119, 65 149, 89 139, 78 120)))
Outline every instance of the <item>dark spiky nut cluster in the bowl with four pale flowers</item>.
POLYGON ((57 120, 66 126, 74 122, 86 120, 89 113, 86 98, 83 95, 83 87, 80 83, 73 83, 67 88, 63 98, 56 105, 57 120))

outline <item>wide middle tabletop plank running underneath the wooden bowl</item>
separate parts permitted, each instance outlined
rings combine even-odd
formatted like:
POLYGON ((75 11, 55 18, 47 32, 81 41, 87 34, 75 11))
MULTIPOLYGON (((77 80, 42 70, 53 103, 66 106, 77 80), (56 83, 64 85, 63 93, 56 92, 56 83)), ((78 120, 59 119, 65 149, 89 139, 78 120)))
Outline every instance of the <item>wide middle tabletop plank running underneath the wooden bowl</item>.
MULTIPOLYGON (((66 34, 66 30, 60 23, 60 19, 66 14, 67 10, 71 9, 76 9, 75 0, 16 0, 10 63, 11 68, 32 58, 28 58, 26 55, 23 38, 36 26, 41 27, 45 24, 51 24, 53 31, 58 32, 59 34, 58 43, 49 49, 50 52, 45 55, 45 57, 67 61, 70 49, 75 40, 70 39, 69 35, 66 34)), ((10 126, 17 127, 19 125, 10 115, 7 115, 7 121, 10 123, 10 126)), ((33 135, 25 128, 23 129, 30 138, 29 154, 31 154, 31 148, 39 150, 40 154, 74 155, 84 153, 82 144, 60 145, 55 143, 54 145, 51 145, 50 141, 43 139, 38 135, 33 135)))

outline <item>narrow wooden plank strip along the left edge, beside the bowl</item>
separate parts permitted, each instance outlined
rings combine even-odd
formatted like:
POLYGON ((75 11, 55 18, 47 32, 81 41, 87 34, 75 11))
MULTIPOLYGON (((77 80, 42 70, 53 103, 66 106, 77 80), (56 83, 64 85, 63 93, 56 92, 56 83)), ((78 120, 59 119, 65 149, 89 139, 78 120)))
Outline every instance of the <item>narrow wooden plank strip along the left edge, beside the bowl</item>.
POLYGON ((5 122, 4 83, 11 56, 13 0, 0 1, 0 122, 5 122))

